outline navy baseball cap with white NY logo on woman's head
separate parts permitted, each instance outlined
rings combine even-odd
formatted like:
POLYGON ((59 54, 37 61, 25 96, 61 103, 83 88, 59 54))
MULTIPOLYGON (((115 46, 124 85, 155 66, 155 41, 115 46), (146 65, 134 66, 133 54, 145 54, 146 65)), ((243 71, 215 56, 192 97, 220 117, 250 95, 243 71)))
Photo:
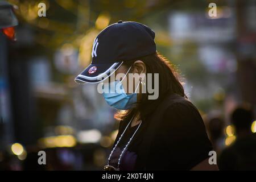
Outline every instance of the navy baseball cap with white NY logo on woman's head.
POLYGON ((97 35, 92 63, 75 78, 79 84, 98 83, 108 78, 125 61, 156 52, 155 32, 138 22, 111 24, 97 35))

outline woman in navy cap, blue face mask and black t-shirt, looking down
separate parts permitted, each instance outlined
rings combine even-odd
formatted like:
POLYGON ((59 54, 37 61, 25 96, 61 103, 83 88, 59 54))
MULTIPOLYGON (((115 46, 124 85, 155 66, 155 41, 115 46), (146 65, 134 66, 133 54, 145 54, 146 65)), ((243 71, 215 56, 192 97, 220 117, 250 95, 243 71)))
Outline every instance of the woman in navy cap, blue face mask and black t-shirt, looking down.
POLYGON ((137 22, 106 27, 94 40, 92 64, 75 79, 102 83, 106 102, 122 110, 115 114, 119 131, 104 169, 218 169, 208 162, 212 145, 199 111, 169 61, 156 52, 154 38, 154 31, 137 22), (143 85, 155 92, 148 86, 142 92, 143 85))

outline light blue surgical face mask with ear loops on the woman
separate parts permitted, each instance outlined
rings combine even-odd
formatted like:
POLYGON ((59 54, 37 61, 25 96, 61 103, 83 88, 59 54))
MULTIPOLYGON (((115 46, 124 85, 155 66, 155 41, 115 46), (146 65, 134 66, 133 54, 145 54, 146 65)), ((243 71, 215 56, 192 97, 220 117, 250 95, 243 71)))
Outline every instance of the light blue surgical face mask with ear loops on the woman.
MULTIPOLYGON (((127 71, 130 71, 131 67, 127 71)), ((126 75, 127 75, 126 73, 126 75)), ((125 75, 125 76, 126 76, 125 75)), ((122 79, 123 80, 123 79, 122 79)), ((108 93, 103 92, 103 97, 105 101, 115 109, 127 110, 134 107, 137 102, 137 89, 139 88, 139 84, 135 89, 135 93, 126 94, 125 89, 123 89, 122 82, 117 80, 114 82, 104 84, 104 89, 108 88, 108 93)))

